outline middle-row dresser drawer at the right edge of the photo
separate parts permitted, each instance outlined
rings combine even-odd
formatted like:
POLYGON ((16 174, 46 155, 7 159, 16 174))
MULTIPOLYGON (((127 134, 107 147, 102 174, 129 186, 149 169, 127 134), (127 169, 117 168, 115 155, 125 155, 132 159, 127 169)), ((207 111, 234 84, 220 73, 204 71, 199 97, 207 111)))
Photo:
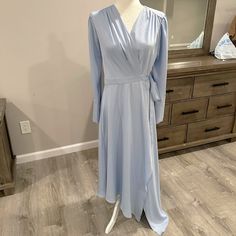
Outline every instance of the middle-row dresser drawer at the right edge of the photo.
POLYGON ((207 117, 234 113, 235 98, 234 93, 210 97, 207 117))

